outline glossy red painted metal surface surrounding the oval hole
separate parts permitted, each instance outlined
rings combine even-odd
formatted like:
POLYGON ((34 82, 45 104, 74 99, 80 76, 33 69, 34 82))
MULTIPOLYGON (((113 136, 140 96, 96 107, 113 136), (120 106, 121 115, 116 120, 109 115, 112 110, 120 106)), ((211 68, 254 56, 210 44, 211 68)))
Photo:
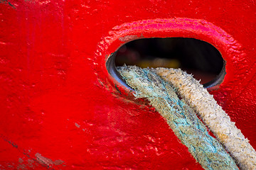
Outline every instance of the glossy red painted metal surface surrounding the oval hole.
POLYGON ((107 73, 137 38, 220 50, 215 99, 256 147, 255 1, 0 1, 0 169, 201 169, 107 73))

